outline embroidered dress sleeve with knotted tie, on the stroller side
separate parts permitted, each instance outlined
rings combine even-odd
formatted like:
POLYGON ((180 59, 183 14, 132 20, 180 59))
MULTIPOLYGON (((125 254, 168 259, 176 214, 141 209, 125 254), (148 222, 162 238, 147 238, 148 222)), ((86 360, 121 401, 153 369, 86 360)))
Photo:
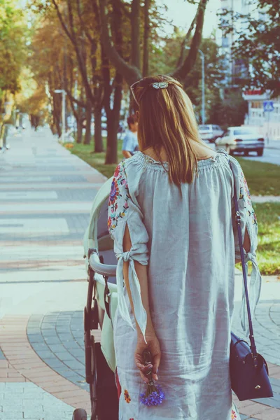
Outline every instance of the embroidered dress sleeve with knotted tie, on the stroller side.
POLYGON ((142 265, 148 265, 148 232, 143 223, 143 214, 139 204, 128 189, 125 162, 121 162, 118 165, 113 176, 109 197, 108 229, 114 241, 114 251, 118 258, 116 278, 120 316, 133 328, 124 293, 123 262, 127 261, 129 263, 129 283, 134 306, 134 316, 145 337, 147 314, 142 304, 141 288, 134 267, 134 260, 137 260, 142 265), (130 230, 132 248, 130 251, 124 252, 123 237, 125 235, 126 225, 130 230))

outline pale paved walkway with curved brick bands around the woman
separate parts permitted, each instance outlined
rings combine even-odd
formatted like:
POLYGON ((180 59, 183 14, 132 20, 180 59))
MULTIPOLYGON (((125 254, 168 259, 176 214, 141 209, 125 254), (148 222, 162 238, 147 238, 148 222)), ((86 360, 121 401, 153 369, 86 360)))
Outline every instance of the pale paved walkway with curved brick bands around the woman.
MULTIPOLYGON (((73 407, 90 413, 81 242, 105 179, 48 130, 9 143, 0 155, 0 420, 68 420, 73 407)), ((233 328, 243 335, 239 272, 236 279, 233 328)), ((280 420, 279 292, 277 277, 264 279, 254 319, 274 398, 237 401, 242 420, 280 420)))

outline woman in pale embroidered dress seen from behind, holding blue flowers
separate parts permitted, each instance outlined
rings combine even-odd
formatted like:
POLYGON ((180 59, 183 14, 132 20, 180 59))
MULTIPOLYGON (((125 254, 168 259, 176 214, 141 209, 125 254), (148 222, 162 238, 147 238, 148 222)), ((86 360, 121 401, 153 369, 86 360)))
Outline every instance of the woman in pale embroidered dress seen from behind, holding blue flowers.
POLYGON ((246 181, 237 160, 230 158, 233 176, 228 155, 200 140, 193 106, 179 82, 148 77, 132 85, 132 92, 140 151, 118 165, 109 200, 118 258, 119 419, 239 419, 229 372, 239 258, 234 179, 246 259, 254 262, 252 309, 260 282, 246 181), (165 392, 155 407, 139 402, 146 390, 146 348, 153 356, 153 379, 165 392))

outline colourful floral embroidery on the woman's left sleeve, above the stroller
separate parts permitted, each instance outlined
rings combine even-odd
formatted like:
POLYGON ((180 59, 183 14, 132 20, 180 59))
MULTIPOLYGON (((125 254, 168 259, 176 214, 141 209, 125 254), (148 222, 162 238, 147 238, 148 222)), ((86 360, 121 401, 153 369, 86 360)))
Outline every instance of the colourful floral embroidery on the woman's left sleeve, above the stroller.
POLYGON ((116 167, 109 196, 109 207, 111 211, 109 211, 108 230, 110 233, 118 226, 118 220, 127 214, 129 199, 130 193, 127 186, 127 174, 125 172, 124 162, 121 162, 116 167))

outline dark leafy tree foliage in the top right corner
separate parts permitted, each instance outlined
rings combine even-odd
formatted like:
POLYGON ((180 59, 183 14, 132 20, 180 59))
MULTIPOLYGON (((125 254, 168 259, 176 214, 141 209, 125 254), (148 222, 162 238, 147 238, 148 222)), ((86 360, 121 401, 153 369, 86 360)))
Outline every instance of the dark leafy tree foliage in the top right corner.
POLYGON ((235 31, 237 36, 232 55, 248 70, 248 76, 240 80, 243 86, 270 90, 277 96, 280 94, 279 0, 252 0, 251 3, 254 10, 248 15, 223 10, 221 29, 224 33, 235 31), (237 21, 243 22, 241 28, 237 27, 237 21))

